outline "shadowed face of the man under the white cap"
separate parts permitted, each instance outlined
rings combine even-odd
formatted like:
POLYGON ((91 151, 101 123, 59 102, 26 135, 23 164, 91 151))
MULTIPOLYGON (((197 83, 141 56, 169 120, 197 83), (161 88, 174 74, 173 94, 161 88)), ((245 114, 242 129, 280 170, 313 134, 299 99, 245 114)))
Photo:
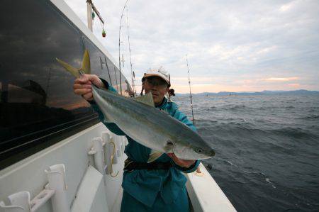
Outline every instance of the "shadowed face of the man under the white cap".
POLYGON ((161 77, 147 77, 144 82, 145 94, 152 92, 154 104, 162 103, 164 95, 169 91, 167 82, 161 77))

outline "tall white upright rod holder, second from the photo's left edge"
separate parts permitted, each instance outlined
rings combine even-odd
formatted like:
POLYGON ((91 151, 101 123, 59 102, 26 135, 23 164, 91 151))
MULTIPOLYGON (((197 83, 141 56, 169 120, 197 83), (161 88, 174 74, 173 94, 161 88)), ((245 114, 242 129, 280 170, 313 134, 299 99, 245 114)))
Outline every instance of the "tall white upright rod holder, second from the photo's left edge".
POLYGON ((52 196, 53 212, 69 212, 65 164, 52 165, 45 170, 45 173, 47 173, 49 189, 55 190, 55 194, 52 196))

